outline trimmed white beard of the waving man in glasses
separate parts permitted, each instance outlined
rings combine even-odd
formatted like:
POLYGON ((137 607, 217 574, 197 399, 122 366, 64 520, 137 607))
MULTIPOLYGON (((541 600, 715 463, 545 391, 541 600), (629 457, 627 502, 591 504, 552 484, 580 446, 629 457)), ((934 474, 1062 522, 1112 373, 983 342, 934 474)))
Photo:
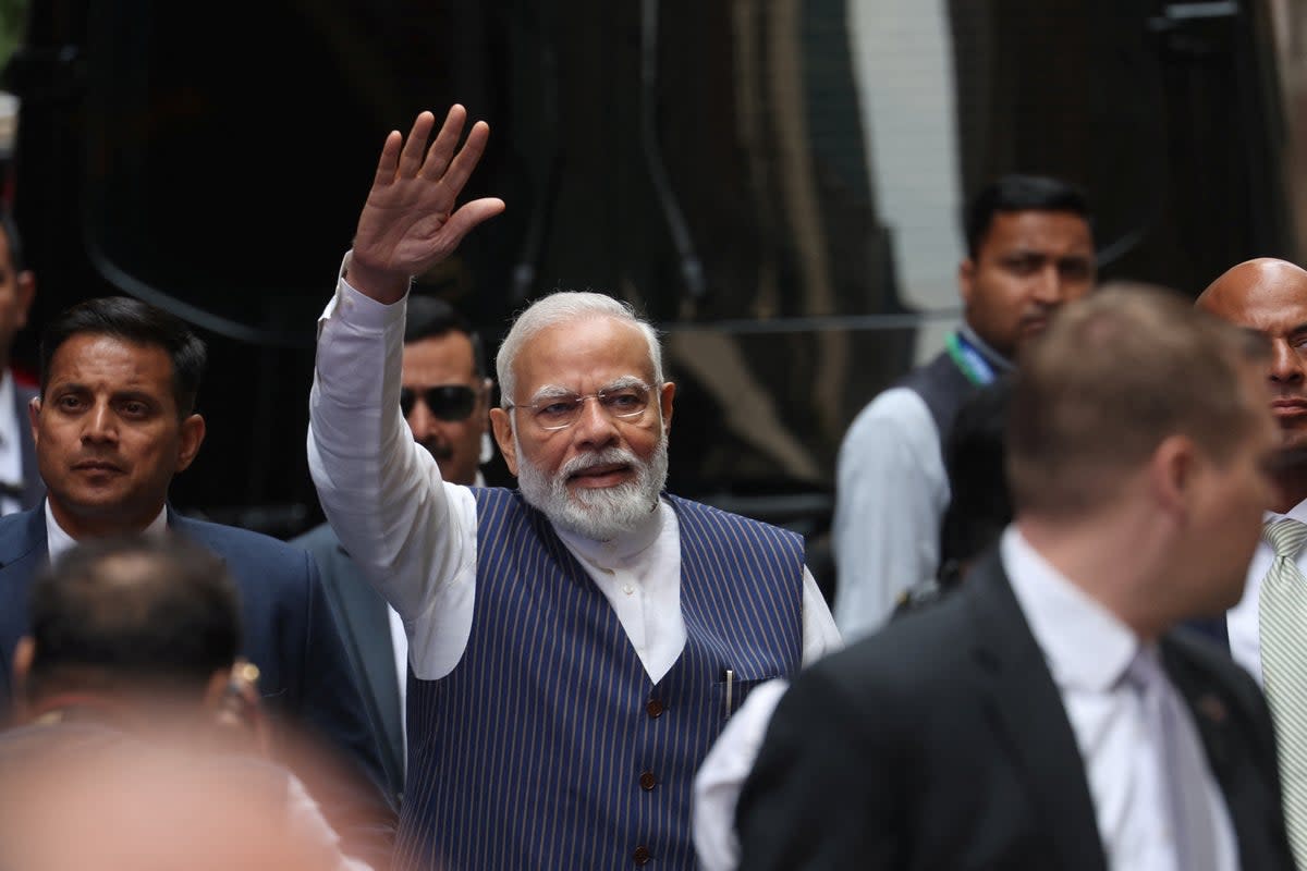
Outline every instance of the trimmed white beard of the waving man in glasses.
POLYGON ((596 453, 572 457, 554 474, 544 473, 518 453, 518 487, 528 505, 544 512, 555 526, 593 541, 609 541, 640 526, 657 505, 659 494, 667 484, 667 435, 654 449, 648 462, 642 462, 630 451, 609 448, 596 453), (567 490, 567 479, 591 466, 627 464, 635 469, 635 479, 616 487, 567 490))

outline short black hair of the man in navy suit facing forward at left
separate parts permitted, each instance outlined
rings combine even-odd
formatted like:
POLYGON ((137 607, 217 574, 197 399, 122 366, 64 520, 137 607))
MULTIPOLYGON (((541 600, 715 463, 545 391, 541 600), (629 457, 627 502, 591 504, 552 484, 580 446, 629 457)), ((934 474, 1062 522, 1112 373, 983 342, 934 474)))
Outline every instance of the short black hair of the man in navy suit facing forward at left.
POLYGON ((137 345, 162 347, 173 362, 176 413, 195 410, 208 359, 204 341, 184 320, 132 296, 97 296, 64 309, 41 337, 41 392, 50 383, 50 363, 73 336, 112 336, 137 345))

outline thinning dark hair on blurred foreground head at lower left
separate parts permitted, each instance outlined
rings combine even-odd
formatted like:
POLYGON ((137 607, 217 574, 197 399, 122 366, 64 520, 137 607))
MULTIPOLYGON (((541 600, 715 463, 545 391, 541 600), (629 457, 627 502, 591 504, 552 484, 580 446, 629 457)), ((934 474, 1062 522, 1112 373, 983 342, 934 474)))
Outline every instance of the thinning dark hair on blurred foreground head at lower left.
POLYGON ((38 575, 27 616, 31 699, 73 683, 203 693, 240 649, 239 594, 225 563, 176 533, 77 543, 38 575))

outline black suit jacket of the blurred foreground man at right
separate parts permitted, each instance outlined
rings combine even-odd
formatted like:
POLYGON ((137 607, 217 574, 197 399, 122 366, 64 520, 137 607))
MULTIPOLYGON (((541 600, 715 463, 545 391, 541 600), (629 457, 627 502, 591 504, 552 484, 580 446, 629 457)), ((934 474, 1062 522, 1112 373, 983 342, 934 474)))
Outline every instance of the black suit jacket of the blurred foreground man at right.
MULTIPOLYGON (((1265 700, 1185 631, 1193 712, 1243 868, 1294 867, 1265 700)), ((1061 695, 996 554, 944 601, 801 673, 740 795, 742 868, 1106 871, 1061 695)))

